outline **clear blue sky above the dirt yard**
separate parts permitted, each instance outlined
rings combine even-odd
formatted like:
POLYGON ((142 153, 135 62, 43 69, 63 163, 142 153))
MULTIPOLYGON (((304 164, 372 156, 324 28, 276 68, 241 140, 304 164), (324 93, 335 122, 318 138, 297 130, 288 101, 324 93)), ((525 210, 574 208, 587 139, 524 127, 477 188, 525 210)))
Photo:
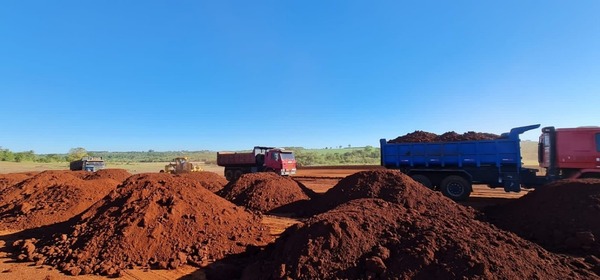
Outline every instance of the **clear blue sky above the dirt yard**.
POLYGON ((2 1, 0 146, 323 148, 600 125, 599 14, 595 0, 2 1))

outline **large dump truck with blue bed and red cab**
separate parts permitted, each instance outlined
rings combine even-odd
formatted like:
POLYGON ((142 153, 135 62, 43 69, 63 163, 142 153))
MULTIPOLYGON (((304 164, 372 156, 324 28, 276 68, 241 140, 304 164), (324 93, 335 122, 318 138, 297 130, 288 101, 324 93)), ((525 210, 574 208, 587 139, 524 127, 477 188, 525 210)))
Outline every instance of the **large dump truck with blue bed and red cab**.
POLYGON ((381 139, 381 165, 457 201, 470 196, 473 184, 519 192, 560 179, 600 178, 600 127, 543 128, 538 142, 543 175, 523 167, 519 135, 539 127, 516 127, 495 140, 388 143, 381 139))

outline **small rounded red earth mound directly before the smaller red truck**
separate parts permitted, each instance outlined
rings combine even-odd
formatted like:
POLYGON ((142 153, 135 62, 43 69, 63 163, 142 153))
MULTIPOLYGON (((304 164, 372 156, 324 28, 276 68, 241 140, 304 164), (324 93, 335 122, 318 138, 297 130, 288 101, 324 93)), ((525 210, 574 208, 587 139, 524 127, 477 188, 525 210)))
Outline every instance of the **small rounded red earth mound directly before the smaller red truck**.
POLYGON ((272 172, 244 174, 225 186, 219 195, 237 205, 260 212, 269 212, 310 199, 296 181, 272 172))

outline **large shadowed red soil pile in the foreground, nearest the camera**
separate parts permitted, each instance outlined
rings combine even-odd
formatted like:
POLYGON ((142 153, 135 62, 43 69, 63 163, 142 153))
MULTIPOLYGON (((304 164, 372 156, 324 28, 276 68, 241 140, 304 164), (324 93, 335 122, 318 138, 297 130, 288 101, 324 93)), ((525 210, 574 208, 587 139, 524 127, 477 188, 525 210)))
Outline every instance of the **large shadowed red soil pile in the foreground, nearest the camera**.
MULTIPOLYGON (((413 184, 400 173, 372 175, 383 176, 362 184, 413 184)), ((473 219, 425 187, 398 190, 389 197, 402 203, 355 199, 288 228, 243 279, 598 279, 583 261, 473 219)))

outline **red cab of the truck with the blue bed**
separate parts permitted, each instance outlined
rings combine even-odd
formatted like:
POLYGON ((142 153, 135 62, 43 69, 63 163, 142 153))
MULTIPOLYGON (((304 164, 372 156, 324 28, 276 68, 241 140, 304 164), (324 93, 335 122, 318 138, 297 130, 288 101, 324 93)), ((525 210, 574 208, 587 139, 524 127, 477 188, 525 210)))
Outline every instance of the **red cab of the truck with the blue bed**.
POLYGON ((600 178, 600 127, 545 127, 538 156, 554 179, 600 178))

